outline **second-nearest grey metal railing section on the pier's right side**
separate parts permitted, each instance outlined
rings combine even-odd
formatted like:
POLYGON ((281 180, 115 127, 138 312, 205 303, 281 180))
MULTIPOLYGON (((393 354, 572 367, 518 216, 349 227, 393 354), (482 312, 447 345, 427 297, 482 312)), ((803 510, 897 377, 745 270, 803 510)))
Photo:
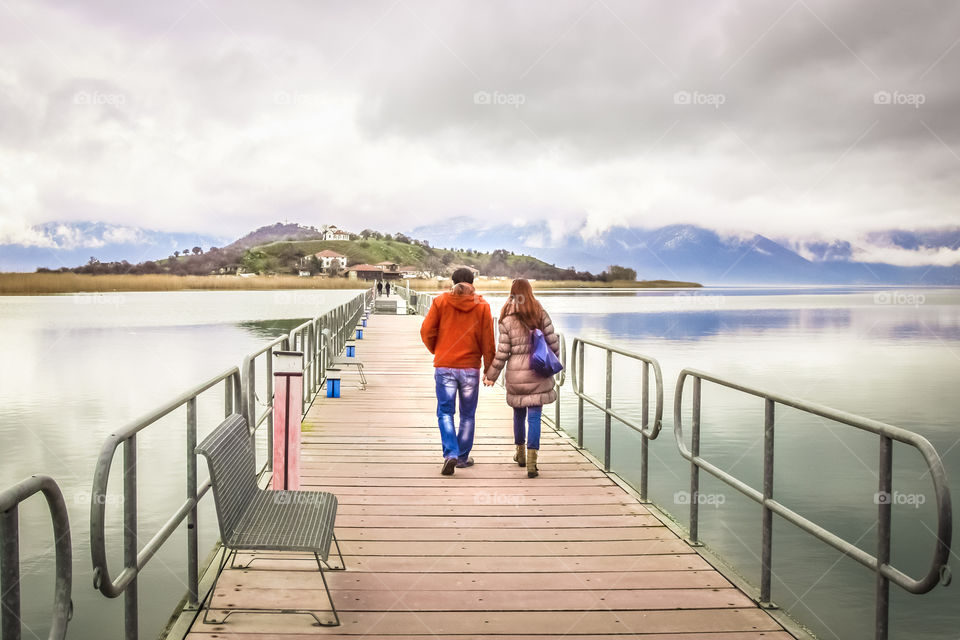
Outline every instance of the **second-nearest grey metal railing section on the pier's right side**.
POLYGON ((577 446, 583 448, 583 403, 600 409, 603 412, 603 468, 610 471, 611 458, 611 420, 617 420, 641 436, 640 447, 640 498, 647 499, 647 477, 649 459, 649 441, 656 440, 663 428, 663 375, 660 372, 660 363, 650 356, 645 356, 626 349, 584 338, 574 338, 573 349, 570 352, 570 375, 573 378, 573 393, 577 396, 577 446), (605 394, 601 402, 590 397, 583 391, 584 376, 584 347, 596 347, 606 354, 605 394), (613 356, 614 354, 638 360, 643 363, 640 379, 640 423, 628 418, 613 409, 613 356), (654 406, 653 425, 650 425, 650 368, 653 368, 656 404, 654 406))

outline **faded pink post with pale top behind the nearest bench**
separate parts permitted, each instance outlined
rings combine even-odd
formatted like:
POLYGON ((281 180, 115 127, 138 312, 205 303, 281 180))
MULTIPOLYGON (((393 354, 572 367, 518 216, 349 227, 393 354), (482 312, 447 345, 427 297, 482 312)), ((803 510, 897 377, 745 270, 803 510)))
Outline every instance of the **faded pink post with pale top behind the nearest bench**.
POLYGON ((300 406, 303 354, 274 351, 273 489, 300 488, 300 406))

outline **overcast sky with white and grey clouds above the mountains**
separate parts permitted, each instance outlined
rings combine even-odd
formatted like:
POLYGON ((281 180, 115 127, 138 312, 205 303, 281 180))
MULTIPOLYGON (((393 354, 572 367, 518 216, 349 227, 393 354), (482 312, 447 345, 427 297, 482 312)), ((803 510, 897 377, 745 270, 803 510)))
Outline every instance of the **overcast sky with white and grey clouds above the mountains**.
POLYGON ((950 1, 0 0, 0 243, 960 224, 950 1))

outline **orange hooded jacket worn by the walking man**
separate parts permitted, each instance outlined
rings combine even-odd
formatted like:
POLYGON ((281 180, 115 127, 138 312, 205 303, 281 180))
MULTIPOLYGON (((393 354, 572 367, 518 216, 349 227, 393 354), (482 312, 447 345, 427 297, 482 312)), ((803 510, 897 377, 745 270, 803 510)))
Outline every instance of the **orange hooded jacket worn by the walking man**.
POLYGON ((495 351, 490 305, 473 285, 461 282, 437 296, 420 327, 420 338, 433 354, 433 366, 486 370, 495 351))

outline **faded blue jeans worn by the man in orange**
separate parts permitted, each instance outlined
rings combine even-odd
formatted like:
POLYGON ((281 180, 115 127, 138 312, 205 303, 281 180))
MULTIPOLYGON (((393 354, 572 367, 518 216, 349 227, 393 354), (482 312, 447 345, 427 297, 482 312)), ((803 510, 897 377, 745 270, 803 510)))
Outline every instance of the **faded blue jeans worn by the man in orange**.
POLYGON ((473 448, 473 427, 476 422, 477 400, 480 391, 479 369, 437 367, 433 374, 437 382, 437 423, 444 458, 466 460, 473 448), (460 396, 460 430, 453 427, 453 414, 460 396))

